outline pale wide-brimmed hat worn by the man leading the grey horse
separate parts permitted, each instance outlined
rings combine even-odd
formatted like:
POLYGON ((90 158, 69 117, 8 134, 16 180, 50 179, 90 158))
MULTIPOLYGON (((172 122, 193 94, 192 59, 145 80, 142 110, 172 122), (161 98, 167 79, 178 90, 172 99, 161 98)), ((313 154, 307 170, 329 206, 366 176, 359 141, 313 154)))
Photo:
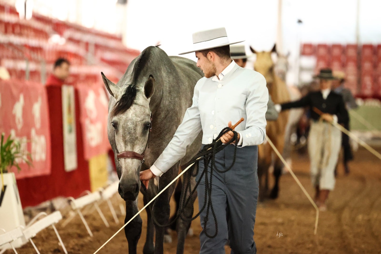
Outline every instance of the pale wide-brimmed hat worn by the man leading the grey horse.
POLYGON ((207 50, 210 48, 218 48, 227 45, 232 45, 240 42, 244 42, 244 40, 240 42, 229 42, 227 38, 225 27, 204 30, 200 32, 195 32, 192 34, 193 46, 192 50, 186 51, 184 53, 180 53, 179 55, 185 55, 188 53, 207 50))

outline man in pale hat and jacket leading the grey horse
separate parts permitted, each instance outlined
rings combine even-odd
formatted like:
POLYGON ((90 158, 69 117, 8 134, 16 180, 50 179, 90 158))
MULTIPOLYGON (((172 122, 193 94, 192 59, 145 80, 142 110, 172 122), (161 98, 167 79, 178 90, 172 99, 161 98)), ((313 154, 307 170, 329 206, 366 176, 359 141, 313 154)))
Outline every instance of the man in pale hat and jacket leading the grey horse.
MULTIPOLYGON (((230 57, 229 42, 225 28, 200 31, 193 34, 193 49, 197 66, 205 77, 194 89, 193 104, 187 109, 172 140, 150 169, 140 173, 140 179, 148 186, 148 181, 161 176, 182 156, 187 146, 203 131, 202 143, 212 143, 226 124, 245 119, 235 129, 238 133, 238 146, 234 167, 226 173, 213 173, 211 200, 218 222, 218 235, 213 223, 202 223, 200 233, 200 253, 225 253, 224 245, 230 240, 231 253, 256 253, 253 240, 256 204, 258 200, 258 148, 266 137, 267 102, 269 98, 266 80, 263 75, 250 69, 243 69, 230 57), (227 123, 228 122, 228 123, 227 123)), ((234 137, 227 132, 221 137, 227 143, 234 137)), ((234 146, 216 154, 216 166, 220 170, 233 160, 234 146)), ((200 174, 202 163, 200 163, 200 174)), ((200 178, 200 175, 197 175, 200 178)), ((204 203, 205 183, 197 188, 199 206, 204 203)), ((207 211, 200 215, 204 221, 207 211)), ((209 214, 210 215, 210 214, 209 214)), ((211 216, 211 215, 210 215, 211 216)), ((212 221, 213 218, 210 218, 212 221)))

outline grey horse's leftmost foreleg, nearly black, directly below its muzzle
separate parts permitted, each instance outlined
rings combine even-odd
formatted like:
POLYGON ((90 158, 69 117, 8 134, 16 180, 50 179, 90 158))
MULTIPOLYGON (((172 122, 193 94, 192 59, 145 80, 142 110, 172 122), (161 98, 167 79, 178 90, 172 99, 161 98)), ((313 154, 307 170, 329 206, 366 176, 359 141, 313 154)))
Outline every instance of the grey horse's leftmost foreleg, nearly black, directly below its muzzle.
MULTIPOLYGON (((127 223, 138 212, 138 199, 135 201, 126 201, 126 218, 127 223)), ((124 233, 128 241, 128 253, 136 254, 136 247, 142 232, 142 219, 140 215, 136 216, 125 228, 124 233)))

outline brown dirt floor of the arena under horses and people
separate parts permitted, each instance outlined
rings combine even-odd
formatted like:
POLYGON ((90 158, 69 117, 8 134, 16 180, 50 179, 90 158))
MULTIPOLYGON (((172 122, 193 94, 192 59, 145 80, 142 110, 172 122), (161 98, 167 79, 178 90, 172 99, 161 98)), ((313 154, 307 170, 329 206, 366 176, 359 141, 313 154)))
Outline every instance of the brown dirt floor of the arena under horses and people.
MULTIPOLYGON (((378 152, 381 152, 378 149, 378 152)), ((293 155, 293 169, 310 195, 313 195, 309 178, 307 156, 293 155)), ((290 174, 281 178, 280 196, 275 201, 260 204, 255 223, 255 241, 258 253, 381 253, 381 161, 366 150, 355 153, 351 174, 344 175, 339 166, 336 189, 328 200, 328 211, 320 212, 317 235, 314 235, 315 210, 290 174), (278 237, 277 232, 283 235, 278 237)), ((116 202, 116 199, 115 201, 116 202)), ((139 196, 142 207, 142 197, 139 196)), ((57 225, 62 240, 70 254, 93 253, 121 226, 116 225, 106 204, 101 205, 110 228, 106 228, 98 214, 88 215, 87 221, 93 237, 75 217, 65 228, 57 225)), ((122 219, 122 216, 119 217, 122 219)), ((142 213, 143 224, 146 212, 142 213)), ((123 219, 122 219, 123 220, 123 219)), ((144 227, 144 226, 143 226, 144 227)), ((199 219, 192 223, 194 236, 186 240, 186 254, 199 252, 201 231, 199 219)), ((142 253, 145 228, 138 244, 142 253)), ((164 253, 176 253, 176 233, 173 243, 165 244, 164 253)), ((53 229, 42 231, 34 238, 41 253, 64 253, 58 246, 53 229)), ((121 231, 99 253, 128 253, 124 231, 121 231)), ((6 253, 13 253, 8 251, 6 253)), ((30 243, 18 249, 19 254, 35 253, 30 243)), ((226 247, 226 253, 230 253, 226 247)))

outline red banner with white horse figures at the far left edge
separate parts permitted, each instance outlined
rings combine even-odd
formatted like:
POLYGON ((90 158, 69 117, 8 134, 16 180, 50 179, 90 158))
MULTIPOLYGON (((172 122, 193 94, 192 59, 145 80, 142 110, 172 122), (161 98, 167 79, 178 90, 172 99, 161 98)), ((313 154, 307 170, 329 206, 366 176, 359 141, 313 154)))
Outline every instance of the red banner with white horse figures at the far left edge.
POLYGON ((34 82, 0 80, 0 132, 11 135, 29 152, 33 166, 19 161, 17 179, 50 174, 51 147, 48 102, 45 87, 34 82))

